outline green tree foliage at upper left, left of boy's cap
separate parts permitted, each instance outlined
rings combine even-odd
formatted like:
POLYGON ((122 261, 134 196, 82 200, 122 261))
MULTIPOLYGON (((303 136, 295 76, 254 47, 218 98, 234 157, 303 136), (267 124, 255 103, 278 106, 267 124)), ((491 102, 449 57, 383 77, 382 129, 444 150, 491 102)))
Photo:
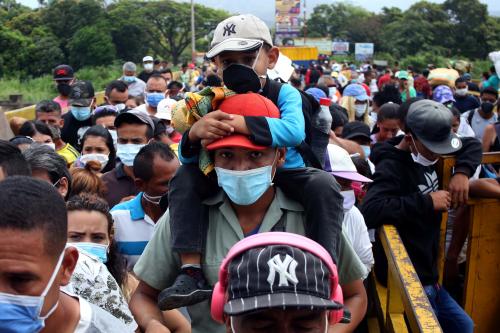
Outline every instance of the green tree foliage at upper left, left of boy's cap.
MULTIPOLYGON (((178 63, 191 43, 190 5, 173 0, 49 0, 39 8, 0 0, 0 77, 39 76, 68 63, 75 69, 140 62, 144 55, 178 63)), ((228 13, 195 9, 196 39, 228 13)), ((204 50, 204 49, 203 49, 204 50)), ((191 57, 189 56, 189 59, 191 57)))

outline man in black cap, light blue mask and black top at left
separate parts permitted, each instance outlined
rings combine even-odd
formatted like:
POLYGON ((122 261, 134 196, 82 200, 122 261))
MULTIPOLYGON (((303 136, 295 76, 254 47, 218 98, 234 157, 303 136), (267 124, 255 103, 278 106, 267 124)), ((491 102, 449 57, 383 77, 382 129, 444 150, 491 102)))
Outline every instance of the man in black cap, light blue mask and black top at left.
POLYGON ((76 81, 69 93, 70 111, 63 116, 61 139, 77 147, 85 131, 92 126, 92 110, 95 106, 94 87, 90 81, 76 81))

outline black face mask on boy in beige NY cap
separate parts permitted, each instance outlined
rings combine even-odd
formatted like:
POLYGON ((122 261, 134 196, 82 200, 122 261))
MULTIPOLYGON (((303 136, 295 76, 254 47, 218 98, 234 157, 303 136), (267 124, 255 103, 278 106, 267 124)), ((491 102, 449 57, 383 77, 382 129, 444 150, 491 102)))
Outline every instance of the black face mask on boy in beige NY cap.
POLYGON ((258 93, 262 89, 259 76, 250 66, 231 64, 222 72, 222 79, 237 94, 258 93))

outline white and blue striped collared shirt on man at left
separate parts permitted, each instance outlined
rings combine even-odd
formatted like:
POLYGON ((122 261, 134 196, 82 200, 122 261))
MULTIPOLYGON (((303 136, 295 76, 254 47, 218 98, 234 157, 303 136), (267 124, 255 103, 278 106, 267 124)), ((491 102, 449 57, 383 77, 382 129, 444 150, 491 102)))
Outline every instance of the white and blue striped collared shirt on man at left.
POLYGON ((144 212, 141 204, 142 192, 129 201, 122 202, 111 210, 115 225, 118 251, 127 260, 128 270, 134 268, 149 240, 153 237, 156 223, 144 212))

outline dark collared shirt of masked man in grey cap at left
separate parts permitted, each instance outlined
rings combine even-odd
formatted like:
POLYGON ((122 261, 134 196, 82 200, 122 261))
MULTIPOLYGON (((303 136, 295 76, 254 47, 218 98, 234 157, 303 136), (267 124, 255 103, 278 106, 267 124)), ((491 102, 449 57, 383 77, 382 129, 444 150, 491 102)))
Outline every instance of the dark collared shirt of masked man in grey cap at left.
POLYGON ((116 206, 123 198, 139 193, 134 180, 127 176, 123 167, 123 164, 119 163, 113 170, 102 175, 101 180, 106 186, 104 198, 109 207, 116 206))

